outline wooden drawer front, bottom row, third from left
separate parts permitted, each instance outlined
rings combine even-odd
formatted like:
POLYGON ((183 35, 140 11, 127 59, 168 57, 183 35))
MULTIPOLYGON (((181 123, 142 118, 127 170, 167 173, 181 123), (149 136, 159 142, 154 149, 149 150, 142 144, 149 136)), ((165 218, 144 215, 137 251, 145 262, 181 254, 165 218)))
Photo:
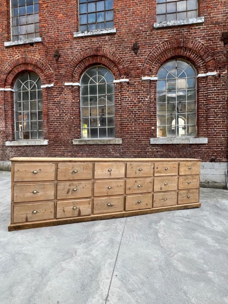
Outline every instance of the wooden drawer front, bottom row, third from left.
POLYGON ((123 196, 94 199, 93 213, 109 213, 123 211, 123 196))

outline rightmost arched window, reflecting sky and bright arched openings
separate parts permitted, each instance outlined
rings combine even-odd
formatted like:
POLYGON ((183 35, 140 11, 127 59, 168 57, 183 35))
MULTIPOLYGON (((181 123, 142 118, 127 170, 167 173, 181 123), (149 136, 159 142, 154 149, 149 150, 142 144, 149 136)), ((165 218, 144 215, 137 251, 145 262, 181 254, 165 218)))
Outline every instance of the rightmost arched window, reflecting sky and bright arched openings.
POLYGON ((170 60, 157 74, 157 136, 196 136, 196 70, 170 60))

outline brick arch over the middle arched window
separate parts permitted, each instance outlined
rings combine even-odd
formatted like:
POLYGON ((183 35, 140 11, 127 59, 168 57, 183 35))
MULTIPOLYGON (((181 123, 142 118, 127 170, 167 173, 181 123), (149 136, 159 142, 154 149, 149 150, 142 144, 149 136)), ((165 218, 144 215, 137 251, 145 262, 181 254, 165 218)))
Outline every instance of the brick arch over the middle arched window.
POLYGON ((106 66, 112 71, 115 78, 129 74, 126 64, 119 54, 104 47, 90 47, 74 55, 71 59, 66 69, 65 82, 79 82, 81 74, 94 64, 106 66))

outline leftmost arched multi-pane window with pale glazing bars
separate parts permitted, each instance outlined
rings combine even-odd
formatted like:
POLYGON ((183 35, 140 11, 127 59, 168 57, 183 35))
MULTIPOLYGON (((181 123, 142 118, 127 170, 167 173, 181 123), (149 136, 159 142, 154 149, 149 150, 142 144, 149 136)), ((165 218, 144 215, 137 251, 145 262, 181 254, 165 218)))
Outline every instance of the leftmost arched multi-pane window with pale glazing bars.
POLYGON ((19 76, 14 85, 16 140, 43 138, 43 104, 40 77, 31 72, 19 76))

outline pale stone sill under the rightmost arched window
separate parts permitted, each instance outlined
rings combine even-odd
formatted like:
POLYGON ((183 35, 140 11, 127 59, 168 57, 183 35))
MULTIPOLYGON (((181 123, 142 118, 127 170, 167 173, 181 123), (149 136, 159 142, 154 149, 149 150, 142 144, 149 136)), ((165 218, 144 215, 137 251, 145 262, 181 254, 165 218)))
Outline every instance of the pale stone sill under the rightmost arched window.
POLYGON ((151 145, 161 144, 205 144, 207 143, 207 137, 157 137, 150 138, 151 145))

